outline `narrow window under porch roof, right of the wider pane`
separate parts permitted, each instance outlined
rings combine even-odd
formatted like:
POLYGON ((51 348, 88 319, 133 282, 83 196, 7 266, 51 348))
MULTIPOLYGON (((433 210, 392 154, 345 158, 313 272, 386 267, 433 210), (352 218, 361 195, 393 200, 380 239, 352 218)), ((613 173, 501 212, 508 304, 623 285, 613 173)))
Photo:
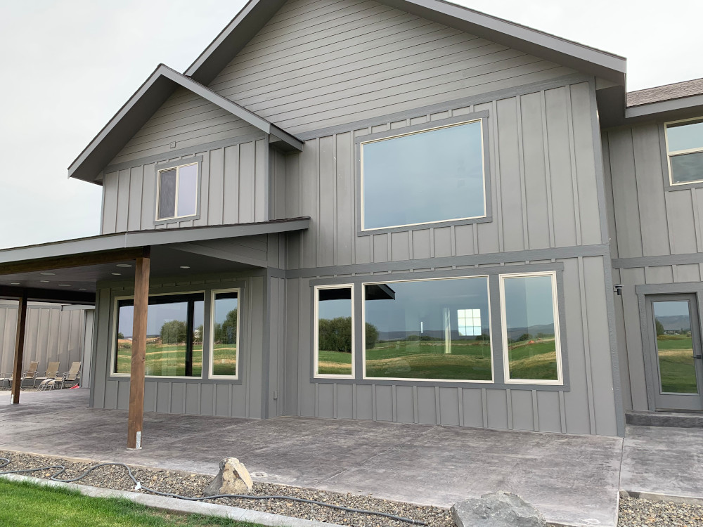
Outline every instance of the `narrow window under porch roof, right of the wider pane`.
POLYGON ((237 377, 239 293, 239 289, 212 292, 212 377, 237 377))

